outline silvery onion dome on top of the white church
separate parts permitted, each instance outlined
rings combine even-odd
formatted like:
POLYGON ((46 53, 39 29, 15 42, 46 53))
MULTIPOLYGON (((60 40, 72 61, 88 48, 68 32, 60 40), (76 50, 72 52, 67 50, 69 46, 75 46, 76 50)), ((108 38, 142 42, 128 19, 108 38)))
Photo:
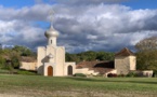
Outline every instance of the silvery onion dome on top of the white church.
POLYGON ((45 32, 44 36, 47 38, 51 38, 51 37, 58 37, 58 31, 56 31, 53 26, 51 26, 45 32))

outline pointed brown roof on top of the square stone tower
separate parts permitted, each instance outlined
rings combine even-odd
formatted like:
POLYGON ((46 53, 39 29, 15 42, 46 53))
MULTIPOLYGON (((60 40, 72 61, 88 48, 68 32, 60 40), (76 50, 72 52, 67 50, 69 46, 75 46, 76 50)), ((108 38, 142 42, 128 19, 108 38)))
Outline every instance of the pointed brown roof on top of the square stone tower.
POLYGON ((115 54, 115 57, 117 56, 135 56, 133 52, 131 52, 129 48, 125 47, 120 52, 115 54))

